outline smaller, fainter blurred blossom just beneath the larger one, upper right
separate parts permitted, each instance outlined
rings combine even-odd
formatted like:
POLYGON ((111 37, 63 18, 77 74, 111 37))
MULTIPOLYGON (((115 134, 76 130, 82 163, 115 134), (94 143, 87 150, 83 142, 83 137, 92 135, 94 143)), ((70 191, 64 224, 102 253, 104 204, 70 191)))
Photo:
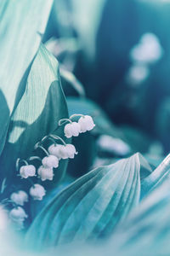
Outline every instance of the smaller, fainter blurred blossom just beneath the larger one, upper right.
POLYGON ((140 84, 148 78, 149 74, 150 70, 147 66, 144 66, 143 64, 134 64, 128 70, 127 82, 133 85, 140 84))

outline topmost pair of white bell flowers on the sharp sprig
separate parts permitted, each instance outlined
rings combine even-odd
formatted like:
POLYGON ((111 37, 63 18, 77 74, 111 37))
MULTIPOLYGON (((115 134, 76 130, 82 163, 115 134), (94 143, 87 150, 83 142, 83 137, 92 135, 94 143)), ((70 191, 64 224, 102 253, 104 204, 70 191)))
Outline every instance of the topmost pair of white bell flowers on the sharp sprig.
POLYGON ((65 137, 77 137, 79 133, 94 129, 94 120, 89 115, 82 115, 78 122, 65 125, 65 137))

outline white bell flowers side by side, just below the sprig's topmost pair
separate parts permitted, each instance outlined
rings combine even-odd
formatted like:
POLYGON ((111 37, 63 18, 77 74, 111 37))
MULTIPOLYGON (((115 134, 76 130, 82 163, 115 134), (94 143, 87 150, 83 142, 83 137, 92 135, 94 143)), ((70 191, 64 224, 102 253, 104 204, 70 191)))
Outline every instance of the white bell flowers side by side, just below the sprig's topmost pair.
POLYGON ((66 145, 51 145, 48 148, 48 152, 50 154, 54 154, 58 159, 67 159, 74 158, 75 154, 77 154, 77 150, 74 145, 66 144, 66 145))

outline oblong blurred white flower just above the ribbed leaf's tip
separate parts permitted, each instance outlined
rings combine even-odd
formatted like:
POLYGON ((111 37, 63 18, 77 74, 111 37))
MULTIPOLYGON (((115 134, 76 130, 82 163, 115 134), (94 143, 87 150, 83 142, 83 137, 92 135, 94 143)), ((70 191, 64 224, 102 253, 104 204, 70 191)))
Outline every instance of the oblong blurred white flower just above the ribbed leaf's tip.
POLYGON ((102 135, 99 137, 98 145, 99 145, 99 148, 105 151, 119 154, 122 156, 129 154, 131 151, 131 148, 127 145, 127 143, 123 142, 119 138, 114 138, 107 135, 102 135))

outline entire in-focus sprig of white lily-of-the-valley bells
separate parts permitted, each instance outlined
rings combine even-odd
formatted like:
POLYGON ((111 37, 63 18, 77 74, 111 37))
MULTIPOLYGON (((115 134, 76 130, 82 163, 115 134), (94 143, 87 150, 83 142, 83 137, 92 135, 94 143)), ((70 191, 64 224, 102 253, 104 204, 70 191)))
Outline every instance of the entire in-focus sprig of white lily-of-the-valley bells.
MULTIPOLYGON (((63 119, 62 119, 63 120, 63 119)), ((70 121, 69 124, 65 125, 64 132, 65 137, 77 137, 79 133, 90 131, 94 128, 94 120, 89 115, 81 115, 78 122, 72 122, 71 119, 66 119, 70 121)), ((33 165, 28 164, 26 160, 18 159, 16 161, 16 168, 19 169, 20 161, 23 161, 25 165, 20 166, 20 177, 28 178, 38 176, 41 178, 42 182, 45 180, 52 181, 54 178, 54 168, 59 166, 59 160, 65 159, 73 159, 77 154, 77 150, 72 144, 66 144, 62 138, 54 135, 49 135, 47 137, 42 138, 40 143, 36 144, 36 148, 42 148, 45 152, 46 156, 40 159, 37 156, 33 156, 30 160, 38 159, 41 160, 41 165, 37 169, 33 165), (60 143, 54 143, 48 148, 48 151, 42 147, 42 142, 46 138, 50 138, 51 140, 59 139, 60 143)), ((31 181, 31 183, 33 183, 31 181)), ((46 190, 39 183, 32 184, 29 194, 33 198, 33 200, 41 201, 43 196, 46 195, 46 190)), ((14 208, 9 212, 9 218, 11 218, 14 224, 17 224, 20 228, 23 228, 23 223, 26 218, 28 218, 23 206, 25 202, 28 201, 28 195, 25 191, 20 190, 18 192, 14 192, 10 196, 10 200, 14 203, 14 208)))

